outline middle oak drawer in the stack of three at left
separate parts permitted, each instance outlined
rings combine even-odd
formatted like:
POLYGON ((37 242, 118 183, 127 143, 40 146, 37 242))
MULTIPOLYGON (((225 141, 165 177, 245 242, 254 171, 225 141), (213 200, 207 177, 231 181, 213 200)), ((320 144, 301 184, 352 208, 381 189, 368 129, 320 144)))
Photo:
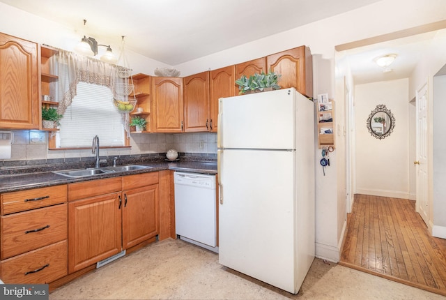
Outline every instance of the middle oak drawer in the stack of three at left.
POLYGON ((67 239, 67 204, 1 216, 1 260, 67 239))

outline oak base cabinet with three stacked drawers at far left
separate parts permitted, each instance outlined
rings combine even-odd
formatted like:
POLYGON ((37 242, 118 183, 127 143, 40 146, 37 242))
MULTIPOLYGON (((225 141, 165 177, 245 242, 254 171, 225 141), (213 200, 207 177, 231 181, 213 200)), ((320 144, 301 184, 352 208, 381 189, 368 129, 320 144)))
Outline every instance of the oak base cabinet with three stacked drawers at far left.
POLYGON ((50 283, 67 275, 66 201, 66 185, 0 194, 4 283, 50 283))

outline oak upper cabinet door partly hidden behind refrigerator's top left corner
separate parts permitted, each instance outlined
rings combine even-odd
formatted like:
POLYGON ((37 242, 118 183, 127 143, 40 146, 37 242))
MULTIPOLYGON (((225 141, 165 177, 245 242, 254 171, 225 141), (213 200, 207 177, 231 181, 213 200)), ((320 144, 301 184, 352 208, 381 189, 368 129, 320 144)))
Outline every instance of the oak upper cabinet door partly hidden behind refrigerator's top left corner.
POLYGON ((236 67, 227 66, 210 71, 209 82, 209 110, 210 110, 210 131, 217 132, 218 121, 218 99, 236 96, 236 67))

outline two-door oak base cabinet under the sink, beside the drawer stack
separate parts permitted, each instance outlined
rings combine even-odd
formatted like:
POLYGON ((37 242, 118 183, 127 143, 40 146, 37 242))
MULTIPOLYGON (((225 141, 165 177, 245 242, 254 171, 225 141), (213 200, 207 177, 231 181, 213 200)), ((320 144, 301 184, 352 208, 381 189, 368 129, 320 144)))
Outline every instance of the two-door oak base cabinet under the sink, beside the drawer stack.
POLYGON ((68 185, 68 273, 159 234, 158 176, 148 172, 68 185), (81 193, 85 198, 79 200, 81 193))

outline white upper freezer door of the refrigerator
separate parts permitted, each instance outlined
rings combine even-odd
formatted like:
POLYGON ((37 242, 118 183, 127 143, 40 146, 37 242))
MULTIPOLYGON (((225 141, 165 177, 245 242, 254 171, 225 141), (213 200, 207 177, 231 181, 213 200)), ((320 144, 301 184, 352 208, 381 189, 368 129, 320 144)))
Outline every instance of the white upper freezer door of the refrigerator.
POLYGON ((304 97, 290 88, 220 98, 217 147, 295 149, 296 96, 304 97))

